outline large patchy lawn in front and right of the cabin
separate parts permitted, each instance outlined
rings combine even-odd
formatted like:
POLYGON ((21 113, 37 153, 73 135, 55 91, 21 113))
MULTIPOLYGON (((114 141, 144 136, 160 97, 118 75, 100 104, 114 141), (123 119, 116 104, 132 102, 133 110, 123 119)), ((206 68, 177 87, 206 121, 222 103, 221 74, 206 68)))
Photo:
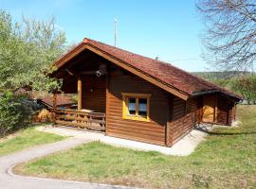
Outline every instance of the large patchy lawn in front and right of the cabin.
POLYGON ((90 143, 22 164, 19 173, 145 188, 256 188, 256 106, 243 127, 214 129, 187 157, 90 143))

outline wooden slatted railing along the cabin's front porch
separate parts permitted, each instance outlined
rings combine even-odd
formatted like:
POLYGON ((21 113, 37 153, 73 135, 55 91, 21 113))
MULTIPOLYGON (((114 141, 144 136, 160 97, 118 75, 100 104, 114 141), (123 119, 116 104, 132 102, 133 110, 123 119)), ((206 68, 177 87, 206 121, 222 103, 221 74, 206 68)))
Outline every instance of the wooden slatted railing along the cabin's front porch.
POLYGON ((105 113, 81 112, 75 110, 55 110, 55 124, 79 129, 105 130, 105 113))

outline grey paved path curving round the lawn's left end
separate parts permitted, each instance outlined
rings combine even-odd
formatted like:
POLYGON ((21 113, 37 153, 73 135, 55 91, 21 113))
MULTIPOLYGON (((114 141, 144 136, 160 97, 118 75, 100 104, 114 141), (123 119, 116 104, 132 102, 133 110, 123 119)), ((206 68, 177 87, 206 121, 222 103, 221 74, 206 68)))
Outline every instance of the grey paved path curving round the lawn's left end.
POLYGON ((51 180, 42 178, 31 178, 14 175, 11 172, 12 166, 35 158, 46 156, 50 153, 65 150, 70 147, 91 142, 87 137, 71 137, 64 141, 35 146, 20 152, 15 152, 7 156, 0 157, 0 188, 1 189, 109 189, 128 188, 122 186, 111 186, 80 181, 51 180))

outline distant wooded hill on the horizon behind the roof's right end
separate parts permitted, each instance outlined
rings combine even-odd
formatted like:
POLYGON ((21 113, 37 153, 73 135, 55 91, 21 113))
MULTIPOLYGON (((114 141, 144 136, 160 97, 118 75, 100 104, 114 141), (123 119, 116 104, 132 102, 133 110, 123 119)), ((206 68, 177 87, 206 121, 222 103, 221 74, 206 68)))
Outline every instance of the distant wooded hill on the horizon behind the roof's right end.
POLYGON ((250 72, 242 71, 229 71, 229 72, 192 72, 192 75, 197 77, 204 77, 206 79, 212 80, 217 78, 231 78, 238 77, 242 75, 248 75, 250 72))

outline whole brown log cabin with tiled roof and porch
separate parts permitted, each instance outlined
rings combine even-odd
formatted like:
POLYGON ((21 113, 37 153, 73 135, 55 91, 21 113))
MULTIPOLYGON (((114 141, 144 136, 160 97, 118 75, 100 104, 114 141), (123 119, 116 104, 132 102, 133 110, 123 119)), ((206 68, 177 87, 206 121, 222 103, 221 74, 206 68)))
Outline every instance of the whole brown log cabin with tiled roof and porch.
POLYGON ((172 64, 90 39, 55 66, 63 92, 78 93, 78 110, 57 111, 57 124, 99 124, 106 135, 159 146, 173 146, 203 122, 230 126, 241 100, 172 64))

